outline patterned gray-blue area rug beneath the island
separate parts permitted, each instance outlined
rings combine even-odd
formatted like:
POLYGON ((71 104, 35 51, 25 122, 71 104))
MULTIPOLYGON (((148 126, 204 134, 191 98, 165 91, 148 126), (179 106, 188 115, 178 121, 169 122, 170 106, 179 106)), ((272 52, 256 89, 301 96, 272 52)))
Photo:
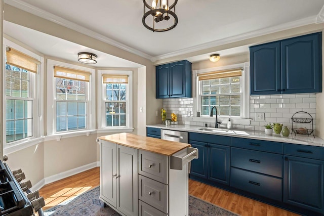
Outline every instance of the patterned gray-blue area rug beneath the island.
MULTIPOLYGON (((99 187, 87 191, 73 200, 63 202, 57 206, 47 209, 43 212, 45 216, 119 216, 120 214, 110 208, 103 207, 103 202, 99 199, 99 187)), ((189 195, 189 216, 199 215, 230 215, 238 214, 228 211, 212 203, 189 195)))

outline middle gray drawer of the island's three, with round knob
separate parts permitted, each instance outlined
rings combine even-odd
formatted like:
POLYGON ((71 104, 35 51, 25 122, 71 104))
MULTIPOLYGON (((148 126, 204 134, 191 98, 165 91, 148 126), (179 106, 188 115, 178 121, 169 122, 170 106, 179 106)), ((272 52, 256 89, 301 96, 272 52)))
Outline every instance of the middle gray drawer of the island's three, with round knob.
POLYGON ((138 199, 168 213, 168 185, 156 182, 144 176, 138 176, 138 199))

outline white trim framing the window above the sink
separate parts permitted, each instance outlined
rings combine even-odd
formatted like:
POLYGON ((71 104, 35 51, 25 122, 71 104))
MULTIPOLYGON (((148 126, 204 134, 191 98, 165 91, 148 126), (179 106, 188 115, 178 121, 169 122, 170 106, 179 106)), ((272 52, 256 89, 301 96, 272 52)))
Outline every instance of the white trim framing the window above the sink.
MULTIPOLYGON (((220 66, 220 67, 213 67, 213 68, 206 68, 206 69, 200 69, 200 70, 193 70, 192 71, 192 90, 193 90, 193 121, 198 122, 206 122, 206 123, 215 123, 215 117, 197 117, 197 112, 200 112, 199 107, 199 81, 197 79, 197 75, 201 73, 207 73, 212 71, 218 71, 218 70, 230 70, 235 68, 244 68, 244 71, 242 71, 242 77, 241 77, 241 88, 242 88, 242 117, 235 117, 231 116, 231 121, 233 124, 250 124, 250 88, 249 88, 249 71, 250 71, 250 62, 245 62, 241 64, 233 64, 233 65, 226 65, 226 66, 220 66)), ((222 122, 227 122, 228 118, 220 118, 219 119, 222 122)))

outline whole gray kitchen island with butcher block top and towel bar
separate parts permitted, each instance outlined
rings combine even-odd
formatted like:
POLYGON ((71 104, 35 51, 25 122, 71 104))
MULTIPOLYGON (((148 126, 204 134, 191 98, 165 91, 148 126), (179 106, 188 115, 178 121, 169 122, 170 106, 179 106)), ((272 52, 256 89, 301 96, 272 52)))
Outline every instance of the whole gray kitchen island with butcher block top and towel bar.
POLYGON ((190 144, 121 133, 97 138, 100 200, 121 215, 188 215, 190 144))

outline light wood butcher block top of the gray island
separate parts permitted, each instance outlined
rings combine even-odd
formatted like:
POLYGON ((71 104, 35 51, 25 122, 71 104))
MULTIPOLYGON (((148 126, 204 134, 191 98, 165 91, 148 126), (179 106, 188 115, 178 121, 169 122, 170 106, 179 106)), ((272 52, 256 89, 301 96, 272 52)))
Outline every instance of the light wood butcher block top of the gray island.
POLYGON ((98 139, 167 156, 171 156, 191 146, 186 143, 178 143, 128 133, 112 134, 99 137, 98 139))

